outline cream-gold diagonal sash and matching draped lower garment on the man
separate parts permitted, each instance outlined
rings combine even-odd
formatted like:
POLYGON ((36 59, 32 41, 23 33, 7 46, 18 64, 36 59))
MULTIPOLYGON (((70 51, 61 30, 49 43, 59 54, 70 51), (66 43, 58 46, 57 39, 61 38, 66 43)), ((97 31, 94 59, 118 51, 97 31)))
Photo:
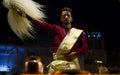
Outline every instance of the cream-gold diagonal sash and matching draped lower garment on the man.
POLYGON ((54 61, 52 61, 48 66, 48 72, 54 73, 56 70, 79 70, 80 65, 78 58, 72 61, 67 61, 65 55, 68 54, 77 41, 83 30, 72 28, 70 33, 68 33, 63 41, 61 42, 56 53, 53 53, 54 61))

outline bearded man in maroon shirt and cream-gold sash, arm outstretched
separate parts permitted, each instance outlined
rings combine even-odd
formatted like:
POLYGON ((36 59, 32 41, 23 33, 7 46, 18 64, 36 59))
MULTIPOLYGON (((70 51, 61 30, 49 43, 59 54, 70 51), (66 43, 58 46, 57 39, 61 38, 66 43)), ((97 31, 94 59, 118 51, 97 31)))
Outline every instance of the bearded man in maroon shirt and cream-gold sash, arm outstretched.
POLYGON ((83 30, 72 27, 72 10, 64 7, 61 10, 61 22, 63 26, 49 24, 28 17, 38 29, 46 31, 54 36, 54 61, 47 67, 49 73, 56 70, 79 70, 78 55, 86 53, 88 49, 86 37, 83 30))

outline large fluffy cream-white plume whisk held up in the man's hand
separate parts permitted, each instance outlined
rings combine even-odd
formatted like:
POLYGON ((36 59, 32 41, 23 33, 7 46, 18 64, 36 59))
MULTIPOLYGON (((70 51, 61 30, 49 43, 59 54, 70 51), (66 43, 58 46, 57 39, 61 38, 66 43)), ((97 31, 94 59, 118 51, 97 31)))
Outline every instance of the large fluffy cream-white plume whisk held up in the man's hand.
POLYGON ((33 19, 44 21, 44 5, 41 5, 33 0, 3 0, 3 5, 8 11, 8 23, 13 32, 20 38, 34 38, 34 27, 26 18, 26 15, 33 19))

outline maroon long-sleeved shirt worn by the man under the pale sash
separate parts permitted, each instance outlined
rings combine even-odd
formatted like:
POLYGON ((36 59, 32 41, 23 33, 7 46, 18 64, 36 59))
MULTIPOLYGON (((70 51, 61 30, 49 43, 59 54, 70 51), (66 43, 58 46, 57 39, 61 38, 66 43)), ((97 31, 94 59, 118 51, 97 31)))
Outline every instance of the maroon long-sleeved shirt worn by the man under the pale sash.
MULTIPOLYGON (((46 22, 41 22, 39 20, 32 20, 34 24, 38 26, 38 29, 46 31, 54 36, 54 52, 57 51, 60 43, 66 36, 66 34, 70 31, 70 29, 65 29, 62 26, 56 24, 49 24, 46 22)), ((78 38, 77 42, 71 49, 71 52, 76 52, 77 55, 84 54, 88 50, 88 45, 86 41, 86 37, 82 33, 78 38)))

